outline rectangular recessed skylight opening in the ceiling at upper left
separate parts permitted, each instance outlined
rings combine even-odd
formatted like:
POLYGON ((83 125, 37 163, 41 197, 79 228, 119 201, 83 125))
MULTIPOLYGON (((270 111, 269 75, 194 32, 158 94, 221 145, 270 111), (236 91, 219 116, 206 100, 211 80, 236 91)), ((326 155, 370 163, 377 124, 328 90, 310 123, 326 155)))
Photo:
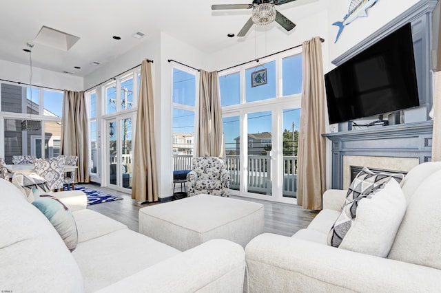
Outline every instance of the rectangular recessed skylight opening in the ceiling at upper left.
POLYGON ((67 52, 79 39, 78 36, 67 34, 43 25, 35 37, 34 42, 67 52))

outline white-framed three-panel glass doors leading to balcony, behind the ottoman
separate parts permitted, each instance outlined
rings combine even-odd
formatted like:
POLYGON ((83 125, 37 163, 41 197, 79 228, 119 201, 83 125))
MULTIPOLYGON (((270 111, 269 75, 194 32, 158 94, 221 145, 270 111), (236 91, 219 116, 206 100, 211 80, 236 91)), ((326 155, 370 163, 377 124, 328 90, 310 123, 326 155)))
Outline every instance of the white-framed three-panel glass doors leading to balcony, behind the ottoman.
POLYGON ((290 106, 244 109, 223 118, 232 195, 296 203, 300 109, 290 106))

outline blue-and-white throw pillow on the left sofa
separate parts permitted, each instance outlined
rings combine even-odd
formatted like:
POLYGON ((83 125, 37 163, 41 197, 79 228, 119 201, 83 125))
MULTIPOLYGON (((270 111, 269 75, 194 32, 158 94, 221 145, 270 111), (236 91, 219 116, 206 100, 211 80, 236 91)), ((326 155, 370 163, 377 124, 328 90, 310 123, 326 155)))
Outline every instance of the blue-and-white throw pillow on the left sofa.
POLYGON ((75 219, 69 208, 52 195, 40 195, 32 202, 48 218, 72 252, 78 243, 75 219))

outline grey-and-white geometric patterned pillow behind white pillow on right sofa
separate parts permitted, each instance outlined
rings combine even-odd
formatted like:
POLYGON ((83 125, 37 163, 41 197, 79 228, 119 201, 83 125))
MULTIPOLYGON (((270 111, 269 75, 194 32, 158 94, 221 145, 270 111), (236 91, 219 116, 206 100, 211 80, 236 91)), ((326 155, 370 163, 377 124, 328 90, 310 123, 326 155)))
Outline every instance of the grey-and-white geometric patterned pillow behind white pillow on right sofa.
POLYGON ((404 174, 400 173, 376 173, 364 167, 356 178, 351 182, 347 191, 342 213, 329 231, 327 243, 329 246, 339 247, 345 235, 356 219, 358 203, 361 199, 372 197, 379 189, 384 188, 391 179, 400 183, 404 174))

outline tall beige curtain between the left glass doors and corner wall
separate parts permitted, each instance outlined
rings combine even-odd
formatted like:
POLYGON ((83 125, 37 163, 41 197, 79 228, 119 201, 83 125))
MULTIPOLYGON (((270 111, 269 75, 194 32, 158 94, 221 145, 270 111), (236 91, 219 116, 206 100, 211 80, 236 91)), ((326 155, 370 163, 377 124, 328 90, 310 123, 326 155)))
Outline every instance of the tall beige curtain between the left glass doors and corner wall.
POLYGON ((134 135, 132 198, 137 202, 158 201, 152 65, 147 59, 141 64, 141 86, 134 135))

